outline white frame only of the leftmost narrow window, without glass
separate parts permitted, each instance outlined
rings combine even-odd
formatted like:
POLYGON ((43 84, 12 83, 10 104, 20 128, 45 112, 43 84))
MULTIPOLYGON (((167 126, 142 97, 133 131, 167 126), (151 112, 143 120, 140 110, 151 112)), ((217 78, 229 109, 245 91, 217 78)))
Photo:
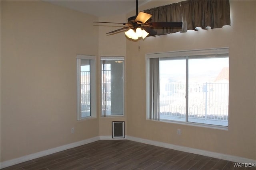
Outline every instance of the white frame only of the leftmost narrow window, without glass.
POLYGON ((84 120, 97 117, 96 107, 96 56, 92 55, 76 55, 76 85, 77 85, 77 120, 84 120), (81 59, 90 60, 90 116, 82 117, 81 110, 81 59))

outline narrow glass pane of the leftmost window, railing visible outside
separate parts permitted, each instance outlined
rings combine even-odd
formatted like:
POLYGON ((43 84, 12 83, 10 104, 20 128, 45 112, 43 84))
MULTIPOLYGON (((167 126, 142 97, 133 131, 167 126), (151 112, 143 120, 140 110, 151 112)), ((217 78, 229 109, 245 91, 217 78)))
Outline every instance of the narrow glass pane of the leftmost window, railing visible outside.
POLYGON ((91 116, 90 109, 90 60, 81 59, 80 66, 81 86, 81 117, 91 116))

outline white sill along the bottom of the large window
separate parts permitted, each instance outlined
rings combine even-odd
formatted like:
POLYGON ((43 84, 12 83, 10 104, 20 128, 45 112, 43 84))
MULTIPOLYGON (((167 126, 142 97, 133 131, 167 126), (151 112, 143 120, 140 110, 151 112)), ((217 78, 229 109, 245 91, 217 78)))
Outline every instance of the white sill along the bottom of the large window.
MULTIPOLYGON (((156 120, 150 120, 150 119, 147 119, 147 120, 156 121, 156 120)), ((179 125, 188 125, 188 126, 204 127, 204 128, 228 131, 228 126, 208 125, 208 124, 192 123, 192 122, 168 121, 168 120, 161 120, 161 119, 160 119, 160 121, 157 121, 157 122, 174 123, 174 124, 179 124, 179 125)))

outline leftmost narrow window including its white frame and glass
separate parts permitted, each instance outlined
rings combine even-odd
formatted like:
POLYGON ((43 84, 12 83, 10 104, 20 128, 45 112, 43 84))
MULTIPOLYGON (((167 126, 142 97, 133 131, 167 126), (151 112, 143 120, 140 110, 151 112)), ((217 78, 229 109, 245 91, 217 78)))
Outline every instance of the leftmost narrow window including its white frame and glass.
POLYGON ((77 55, 77 119, 96 117, 95 57, 77 55))

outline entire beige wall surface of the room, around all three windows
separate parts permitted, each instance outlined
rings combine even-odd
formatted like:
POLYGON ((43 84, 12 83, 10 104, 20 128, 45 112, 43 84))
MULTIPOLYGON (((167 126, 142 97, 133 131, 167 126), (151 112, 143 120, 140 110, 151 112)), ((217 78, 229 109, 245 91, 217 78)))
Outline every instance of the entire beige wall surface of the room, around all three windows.
MULTIPOLYGON (((139 10, 170 3, 151 1, 139 10)), ((138 51, 138 41, 124 33, 106 36, 119 27, 90 24, 124 22, 135 12, 97 18, 48 2, 1 1, 1 162, 109 136, 111 121, 120 120, 129 136, 255 160, 256 2, 230 1, 230 7, 231 27, 147 37, 138 51), (146 120, 145 55, 218 47, 230 49, 229 130, 146 120), (99 118, 76 121, 76 54, 125 57, 124 117, 99 117, 98 105, 99 118)))

